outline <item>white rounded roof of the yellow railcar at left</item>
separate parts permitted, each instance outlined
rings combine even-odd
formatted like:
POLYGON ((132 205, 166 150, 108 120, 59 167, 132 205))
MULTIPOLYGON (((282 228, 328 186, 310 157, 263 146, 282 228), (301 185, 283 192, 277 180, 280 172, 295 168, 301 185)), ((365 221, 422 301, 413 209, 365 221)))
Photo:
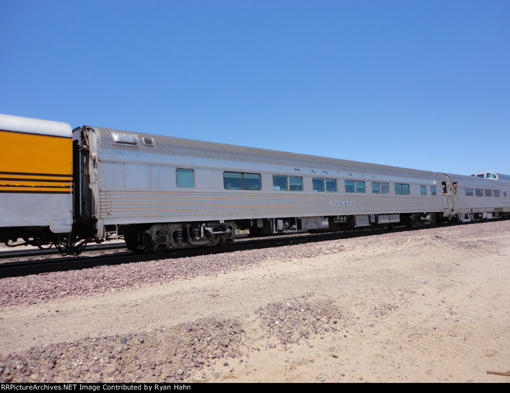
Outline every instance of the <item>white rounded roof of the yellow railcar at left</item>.
POLYGON ((0 113, 0 130, 66 138, 72 137, 71 126, 62 121, 41 120, 2 113, 0 113))

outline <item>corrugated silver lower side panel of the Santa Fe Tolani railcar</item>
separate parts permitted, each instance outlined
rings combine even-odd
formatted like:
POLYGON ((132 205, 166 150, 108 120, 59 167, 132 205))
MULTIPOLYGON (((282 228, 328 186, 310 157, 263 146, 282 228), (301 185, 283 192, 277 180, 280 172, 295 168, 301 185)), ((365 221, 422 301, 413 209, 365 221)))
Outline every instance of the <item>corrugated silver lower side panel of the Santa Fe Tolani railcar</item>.
POLYGON ((443 211, 443 202, 418 196, 331 194, 319 198, 317 193, 301 192, 296 195, 135 189, 100 192, 100 218, 107 224, 419 211, 443 211), (353 206, 331 206, 332 201, 349 201, 353 206))

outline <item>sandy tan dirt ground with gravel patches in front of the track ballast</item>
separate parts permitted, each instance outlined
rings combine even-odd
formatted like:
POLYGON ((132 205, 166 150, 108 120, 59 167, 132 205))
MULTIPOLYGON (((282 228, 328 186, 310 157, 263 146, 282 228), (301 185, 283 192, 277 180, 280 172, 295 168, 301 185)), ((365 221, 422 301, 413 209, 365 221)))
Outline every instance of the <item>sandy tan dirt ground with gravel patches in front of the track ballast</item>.
POLYGON ((55 361, 34 361, 29 382, 510 381, 488 374, 510 370, 508 221, 287 247, 324 252, 268 249, 223 274, 3 307, 0 366, 12 378, 39 346, 55 361), (209 352, 215 333, 190 336, 204 321, 223 321, 209 352))

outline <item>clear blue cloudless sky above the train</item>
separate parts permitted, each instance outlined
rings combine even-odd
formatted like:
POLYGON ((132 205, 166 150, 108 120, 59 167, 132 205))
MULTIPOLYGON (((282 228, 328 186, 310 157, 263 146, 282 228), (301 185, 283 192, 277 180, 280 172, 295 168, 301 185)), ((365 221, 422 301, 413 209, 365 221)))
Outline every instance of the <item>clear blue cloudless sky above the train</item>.
POLYGON ((510 1, 0 0, 0 113, 510 174, 510 1))

